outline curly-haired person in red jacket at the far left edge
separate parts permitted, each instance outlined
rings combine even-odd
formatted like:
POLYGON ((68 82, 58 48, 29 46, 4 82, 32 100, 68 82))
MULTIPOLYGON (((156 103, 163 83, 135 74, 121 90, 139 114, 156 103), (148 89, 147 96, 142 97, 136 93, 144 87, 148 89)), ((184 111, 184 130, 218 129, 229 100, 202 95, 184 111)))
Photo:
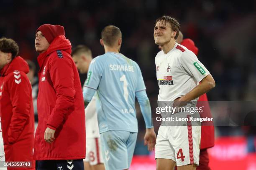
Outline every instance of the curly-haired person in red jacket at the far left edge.
POLYGON ((18 50, 14 40, 0 38, 0 115, 5 161, 27 162, 19 170, 31 170, 35 169, 32 87, 26 75, 28 64, 16 57, 18 50))

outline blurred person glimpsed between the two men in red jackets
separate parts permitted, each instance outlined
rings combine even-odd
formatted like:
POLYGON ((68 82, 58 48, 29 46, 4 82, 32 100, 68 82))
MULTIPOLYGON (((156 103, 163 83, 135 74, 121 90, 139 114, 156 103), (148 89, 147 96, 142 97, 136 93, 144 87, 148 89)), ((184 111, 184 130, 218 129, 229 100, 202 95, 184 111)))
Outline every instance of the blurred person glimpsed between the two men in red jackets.
POLYGON ((34 106, 34 114, 35 114, 35 121, 38 122, 38 115, 37 115, 37 93, 38 93, 38 77, 35 77, 36 72, 36 65, 31 60, 26 60, 28 62, 29 72, 27 74, 28 79, 32 85, 32 97, 33 97, 33 106, 34 106))

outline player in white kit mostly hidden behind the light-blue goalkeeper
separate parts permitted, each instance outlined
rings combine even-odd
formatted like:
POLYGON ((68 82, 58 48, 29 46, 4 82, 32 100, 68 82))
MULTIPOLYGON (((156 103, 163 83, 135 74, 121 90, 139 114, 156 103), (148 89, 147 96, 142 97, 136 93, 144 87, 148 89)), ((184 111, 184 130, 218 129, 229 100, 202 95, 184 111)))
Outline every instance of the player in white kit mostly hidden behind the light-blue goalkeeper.
MULTIPOLYGON (((87 73, 90 62, 92 61, 92 52, 85 45, 78 45, 72 50, 72 58, 78 70, 81 73, 87 73)), ((97 120, 96 98, 87 105, 85 109, 86 126, 86 155, 84 159, 84 170, 105 170, 102 153, 100 149, 100 133, 97 120)))

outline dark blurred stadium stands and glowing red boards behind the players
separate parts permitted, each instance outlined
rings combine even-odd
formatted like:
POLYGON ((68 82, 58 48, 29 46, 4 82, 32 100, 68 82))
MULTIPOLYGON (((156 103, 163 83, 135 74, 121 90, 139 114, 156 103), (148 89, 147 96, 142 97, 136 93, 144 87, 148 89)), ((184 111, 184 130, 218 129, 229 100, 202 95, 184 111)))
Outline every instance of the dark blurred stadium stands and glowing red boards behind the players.
MULTIPOLYGON (((72 46, 87 45, 94 57, 104 53, 99 43, 102 28, 118 26, 123 34, 120 52, 138 62, 148 96, 155 101, 159 88, 154 57, 159 49, 153 32, 156 18, 164 14, 177 18, 184 38, 191 38, 199 48, 198 58, 216 82, 215 89, 207 93, 209 100, 256 100, 253 0, 0 0, 0 37, 13 38, 19 54, 37 64, 34 37, 42 24, 63 25, 72 46)), ((83 84, 86 75, 80 77, 83 84)), ((139 109, 138 122, 140 133, 131 170, 155 169, 154 153, 143 147, 145 129, 139 109)), ((209 150, 212 169, 256 169, 255 134, 255 127, 216 127, 215 147, 209 150)))

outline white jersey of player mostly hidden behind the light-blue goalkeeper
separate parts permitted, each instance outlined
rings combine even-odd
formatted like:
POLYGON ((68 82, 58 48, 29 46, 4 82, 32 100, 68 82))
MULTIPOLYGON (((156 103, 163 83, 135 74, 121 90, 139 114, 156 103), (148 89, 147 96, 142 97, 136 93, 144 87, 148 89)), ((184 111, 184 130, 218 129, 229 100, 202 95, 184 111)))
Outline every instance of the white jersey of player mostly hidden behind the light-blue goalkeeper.
MULTIPOLYGON (((96 92, 95 92, 96 95, 96 92)), ((96 97, 92 97, 92 100, 85 108, 85 130, 86 138, 99 138, 99 126, 97 120, 97 110, 96 110, 96 97)))

